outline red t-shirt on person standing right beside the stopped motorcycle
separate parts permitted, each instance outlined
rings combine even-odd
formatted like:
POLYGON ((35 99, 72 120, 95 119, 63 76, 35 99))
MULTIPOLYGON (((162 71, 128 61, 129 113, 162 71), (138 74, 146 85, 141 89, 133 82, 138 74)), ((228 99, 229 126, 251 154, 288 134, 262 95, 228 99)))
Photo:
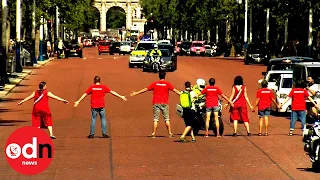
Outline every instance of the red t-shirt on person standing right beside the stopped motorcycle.
POLYGON ((207 86, 201 91, 201 94, 206 94, 206 107, 216 107, 219 105, 218 95, 223 94, 217 86, 207 86))

